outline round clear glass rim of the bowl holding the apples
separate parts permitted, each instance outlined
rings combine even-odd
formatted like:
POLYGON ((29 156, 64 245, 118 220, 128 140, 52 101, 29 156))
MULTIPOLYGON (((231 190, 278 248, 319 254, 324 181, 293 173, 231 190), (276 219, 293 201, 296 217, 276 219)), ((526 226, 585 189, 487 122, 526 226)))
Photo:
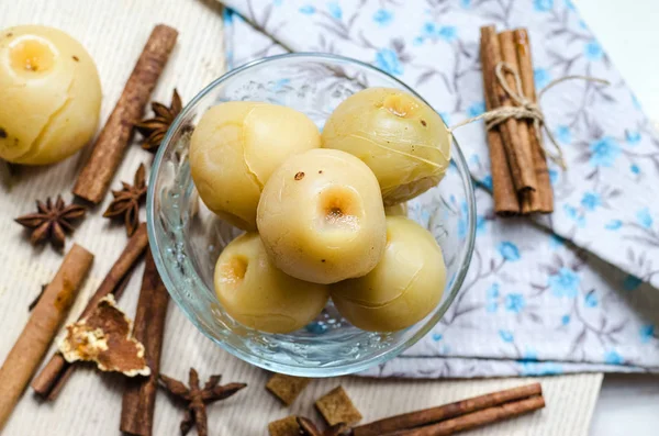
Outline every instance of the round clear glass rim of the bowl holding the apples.
MULTIPOLYGON (((159 241, 158 241, 159 237, 156 233, 155 222, 154 222, 154 220, 156 219, 154 195, 155 195, 156 181, 160 174, 160 165, 163 164, 164 156, 170 147, 176 145, 172 141, 174 132, 176 132, 178 130, 178 127, 180 127, 182 120, 188 115, 188 113, 190 111, 192 111, 197 107, 199 101, 202 100, 208 93, 212 92, 213 89, 221 86, 222 83, 224 83, 226 80, 228 80, 230 78, 232 78, 234 76, 249 74, 249 70, 256 66, 261 66, 264 64, 269 64, 269 63, 277 63, 278 60, 282 60, 282 59, 298 59, 300 62, 317 60, 317 62, 327 62, 327 63, 337 63, 338 62, 338 63, 343 63, 343 64, 349 64, 349 65, 360 68, 360 69, 367 69, 372 72, 387 76, 390 80, 393 80, 394 82, 396 82, 401 87, 401 89, 403 89, 404 91, 410 92, 411 94, 421 99, 422 101, 424 101, 426 104, 428 104, 432 108, 432 105, 429 103, 427 103, 427 101, 425 101, 425 99, 423 99, 421 96, 418 96, 418 93, 416 93, 407 85, 405 85, 398 78, 393 77, 392 75, 388 74, 387 71, 383 71, 372 65, 362 63, 360 60, 353 59, 353 58, 345 57, 345 56, 334 55, 334 54, 289 53, 289 54, 264 57, 264 58, 260 58, 257 60, 253 60, 253 62, 247 63, 247 64, 245 64, 238 68, 235 68, 228 72, 225 72, 223 76, 221 76, 220 78, 215 79, 210 85, 208 85, 201 92, 199 92, 183 108, 181 113, 176 118, 176 120, 170 125, 169 130, 167 131, 167 134, 165 135, 165 138, 163 139, 161 146, 159 147, 158 153, 156 154, 156 157, 154 158, 154 163, 152 165, 152 171, 149 175, 148 191, 147 191, 147 198, 146 198, 146 223, 147 223, 149 246, 150 246, 150 250, 152 250, 156 267, 158 269, 158 272, 160 273, 163 282, 164 282, 165 287, 167 288, 167 291, 171 295, 172 300, 177 303, 177 305, 183 312, 183 314, 192 322, 192 324, 201 333, 204 334, 204 336, 210 338, 213 343, 217 344, 224 350, 228 351, 230 354, 236 356, 237 358, 239 358, 244 361, 247 361, 248 364, 255 365, 257 367, 261 367, 264 369, 268 369, 270 371, 287 373, 290 376, 319 378, 319 377, 337 377, 337 376, 355 373, 355 372, 359 372, 359 371, 366 370, 368 368, 371 368, 376 365, 383 364, 384 361, 388 361, 391 358, 398 356, 399 354, 401 354, 402 351, 404 351, 405 349, 407 349, 409 347, 414 345, 416 342, 418 342, 444 316, 444 314, 446 313, 448 308, 453 304, 456 295, 458 294, 459 289, 462 286, 465 277, 467 275, 467 270, 469 268, 469 264, 471 262, 471 256, 473 254, 473 246, 476 243, 476 197, 474 197, 474 192, 473 192, 473 185, 471 182, 471 177, 469 175, 469 167, 467 166, 467 160, 465 159, 465 156, 462 155, 462 152, 460 150, 460 147, 459 147, 458 143, 456 142, 455 137, 453 138, 451 159, 454 160, 455 165, 460 170, 460 178, 461 178, 462 183, 467 191, 466 192, 466 197, 467 197, 467 199, 466 199, 467 200, 466 249, 462 251, 461 259, 459 260, 459 268, 458 268, 456 278, 455 278, 454 282, 451 283, 449 290, 447 291, 448 295, 446 298, 446 301, 442 304, 440 310, 438 310, 425 323, 425 325, 423 325, 412 337, 410 337, 407 340, 396 344, 395 346, 393 346, 391 348, 388 348, 384 351, 375 354, 367 359, 357 360, 355 362, 343 365, 343 366, 337 366, 337 367, 323 367, 323 368, 300 367, 300 366, 286 365, 286 364, 281 364, 278 361, 269 360, 261 356, 256 356, 254 354, 246 353, 244 349, 237 348, 228 343, 224 343, 224 342, 217 339, 216 337, 214 337, 206 331, 205 326, 203 326, 200 322, 198 322, 196 315, 193 314, 193 311, 188 310, 186 308, 186 304, 183 303, 183 300, 186 300, 186 298, 182 295, 181 292, 178 291, 177 284, 174 283, 172 279, 169 275, 169 271, 164 264, 164 259, 163 259, 163 256, 160 253, 163 248, 159 245, 159 241)), ((199 201, 201 201, 201 200, 199 200, 199 201)))

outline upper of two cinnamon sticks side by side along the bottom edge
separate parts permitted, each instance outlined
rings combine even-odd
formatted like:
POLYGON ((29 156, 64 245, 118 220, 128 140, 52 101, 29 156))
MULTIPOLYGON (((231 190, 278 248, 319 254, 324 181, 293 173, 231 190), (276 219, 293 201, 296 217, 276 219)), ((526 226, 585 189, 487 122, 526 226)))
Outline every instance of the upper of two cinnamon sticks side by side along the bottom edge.
POLYGON ((422 411, 375 421, 372 423, 355 427, 353 432, 354 436, 380 436, 388 433, 433 424, 439 421, 541 394, 543 388, 540 387, 540 383, 533 383, 474 396, 472 399, 462 400, 437 407, 425 409, 422 411))

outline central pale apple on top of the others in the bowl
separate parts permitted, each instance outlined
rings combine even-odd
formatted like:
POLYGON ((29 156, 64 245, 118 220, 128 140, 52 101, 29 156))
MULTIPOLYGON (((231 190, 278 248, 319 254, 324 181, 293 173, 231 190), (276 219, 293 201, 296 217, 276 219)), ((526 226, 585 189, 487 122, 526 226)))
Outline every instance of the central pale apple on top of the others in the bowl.
POLYGON ((257 225, 278 268, 316 283, 366 275, 387 242, 376 176, 335 149, 288 158, 264 189, 257 225))

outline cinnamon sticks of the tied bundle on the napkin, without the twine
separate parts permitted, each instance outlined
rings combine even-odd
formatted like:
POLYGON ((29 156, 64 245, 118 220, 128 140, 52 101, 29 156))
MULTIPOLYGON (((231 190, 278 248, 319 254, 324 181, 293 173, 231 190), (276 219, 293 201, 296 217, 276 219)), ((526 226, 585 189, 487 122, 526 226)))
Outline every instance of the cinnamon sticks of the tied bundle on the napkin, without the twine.
MULTIPOLYGON (((493 25, 481 27, 481 63, 488 111, 517 104, 496 75, 501 63, 513 71, 504 72, 509 88, 516 90, 518 78, 524 97, 537 102, 530 44, 525 29, 498 34, 493 25)), ((547 159, 532 120, 506 119, 488 131, 488 144, 496 214, 554 212, 547 159)))

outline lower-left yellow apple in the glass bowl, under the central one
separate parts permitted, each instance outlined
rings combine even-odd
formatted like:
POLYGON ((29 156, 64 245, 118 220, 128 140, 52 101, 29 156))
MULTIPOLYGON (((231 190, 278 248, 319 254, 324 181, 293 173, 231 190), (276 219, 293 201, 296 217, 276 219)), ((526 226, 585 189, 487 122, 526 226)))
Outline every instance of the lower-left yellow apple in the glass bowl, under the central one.
POLYGON ((268 333, 290 333, 313 321, 328 300, 326 286, 287 276, 272 265, 256 233, 232 241, 215 265, 215 293, 231 317, 268 333))

